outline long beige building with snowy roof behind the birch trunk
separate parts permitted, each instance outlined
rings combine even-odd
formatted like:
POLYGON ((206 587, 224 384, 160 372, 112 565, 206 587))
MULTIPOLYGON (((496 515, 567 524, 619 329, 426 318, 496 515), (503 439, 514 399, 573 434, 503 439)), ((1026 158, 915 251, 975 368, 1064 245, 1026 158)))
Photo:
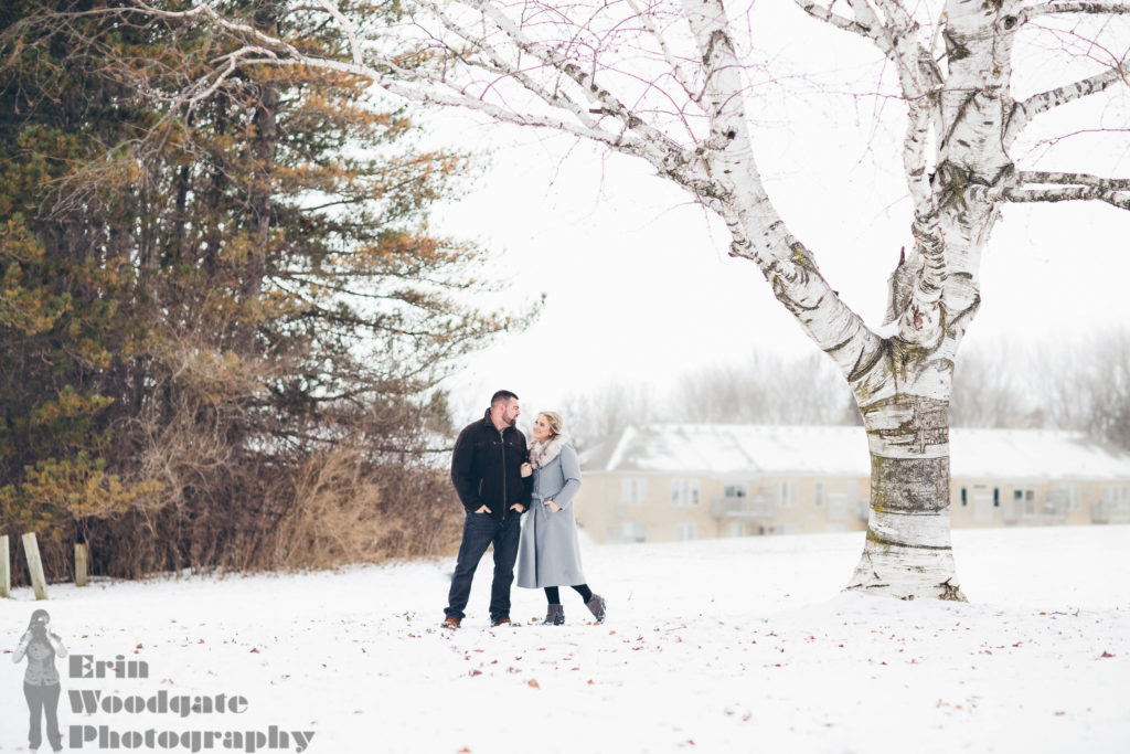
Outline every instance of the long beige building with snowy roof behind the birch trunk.
MULTIPOLYGON (((1130 522, 1130 453, 1070 432, 950 431, 955 527, 1130 522)), ((861 427, 632 426, 582 454, 575 501, 596 541, 867 528, 861 427)))

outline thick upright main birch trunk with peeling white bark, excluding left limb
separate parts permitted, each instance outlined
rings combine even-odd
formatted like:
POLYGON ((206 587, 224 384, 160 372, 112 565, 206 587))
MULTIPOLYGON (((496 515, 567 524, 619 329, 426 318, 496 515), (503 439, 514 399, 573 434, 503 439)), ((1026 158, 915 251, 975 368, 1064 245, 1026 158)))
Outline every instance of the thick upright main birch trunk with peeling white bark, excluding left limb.
POLYGON ((948 77, 940 89, 941 73, 924 55, 898 57, 923 61, 918 76, 904 76, 907 95, 938 93, 920 123, 912 109, 912 183, 925 166, 918 141, 924 124, 937 120, 940 128, 935 172, 915 197, 916 249, 890 280, 888 317, 897 318, 898 335, 884 340, 868 375, 849 374, 871 452, 867 544, 851 589, 964 600, 950 544, 949 398, 957 349, 980 303, 981 253, 999 214, 991 197, 1015 176, 1003 135, 1015 26, 1006 19, 1016 5, 946 3, 948 77))

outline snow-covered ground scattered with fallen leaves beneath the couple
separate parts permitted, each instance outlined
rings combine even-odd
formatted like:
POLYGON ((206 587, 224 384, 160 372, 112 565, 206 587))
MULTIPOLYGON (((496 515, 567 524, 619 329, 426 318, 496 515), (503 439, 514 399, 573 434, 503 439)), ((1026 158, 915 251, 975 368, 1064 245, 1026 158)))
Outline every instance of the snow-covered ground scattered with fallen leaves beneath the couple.
MULTIPOLYGON (((452 561, 53 584, 0 604, 0 627, 7 653, 45 607, 86 658, 60 662, 69 749, 145 751, 153 730, 174 752, 193 739, 169 731, 200 751, 313 731, 315 754, 1130 751, 1130 527, 954 543, 965 605, 841 593, 857 532, 588 545, 603 625, 563 590, 565 626, 490 629, 488 555, 459 632, 438 629, 452 561), (97 677, 118 656, 147 677, 97 677), (111 701, 76 713, 68 692, 111 701), (208 699, 181 717, 160 692, 208 699), (112 711, 146 702, 165 711, 112 711)), ((542 596, 515 588, 514 608, 531 623, 542 596)), ((0 668, 0 751, 25 751, 24 666, 0 668)))

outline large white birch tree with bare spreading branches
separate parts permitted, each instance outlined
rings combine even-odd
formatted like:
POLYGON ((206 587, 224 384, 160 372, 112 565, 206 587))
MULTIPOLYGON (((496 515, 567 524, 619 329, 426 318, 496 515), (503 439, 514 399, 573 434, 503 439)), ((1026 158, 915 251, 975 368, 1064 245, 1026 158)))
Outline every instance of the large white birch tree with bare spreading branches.
POLYGON ((871 510, 849 588, 964 599, 950 547, 948 406, 993 224, 1010 202, 1130 209, 1130 177, 1041 172, 1017 164, 1011 148, 1042 116, 1127 86, 1127 40, 1116 32, 1125 31, 1118 24, 1130 2, 794 6, 873 45, 896 76, 912 241, 890 274, 881 328, 840 298, 816 250, 793 235, 766 191, 748 54, 721 0, 406 0, 405 23, 393 28, 366 26, 346 2, 295 3, 292 12, 321 14, 339 27, 337 59, 311 58, 301 40, 225 16, 218 1, 130 7, 163 23, 207 23, 226 37, 215 75, 183 93, 190 103, 242 66, 325 67, 367 77, 392 95, 556 129, 650 163, 724 222, 730 253, 757 266, 854 395, 871 452, 871 510), (1067 52, 1074 40, 1088 40, 1089 69, 1018 98, 1017 42, 1037 33, 1067 52))

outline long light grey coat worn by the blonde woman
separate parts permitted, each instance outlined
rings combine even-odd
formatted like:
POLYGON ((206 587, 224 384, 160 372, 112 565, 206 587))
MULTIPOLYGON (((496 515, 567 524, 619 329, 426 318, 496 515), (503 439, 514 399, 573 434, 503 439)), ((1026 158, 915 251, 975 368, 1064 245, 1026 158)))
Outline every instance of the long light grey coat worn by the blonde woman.
POLYGON ((533 469, 530 512, 522 517, 522 540, 518 548, 518 586, 527 589, 584 583, 581 551, 576 540, 573 497, 581 488, 581 463, 573 445, 562 445, 557 458, 533 469), (551 500, 562 510, 551 513, 542 501, 551 500))

